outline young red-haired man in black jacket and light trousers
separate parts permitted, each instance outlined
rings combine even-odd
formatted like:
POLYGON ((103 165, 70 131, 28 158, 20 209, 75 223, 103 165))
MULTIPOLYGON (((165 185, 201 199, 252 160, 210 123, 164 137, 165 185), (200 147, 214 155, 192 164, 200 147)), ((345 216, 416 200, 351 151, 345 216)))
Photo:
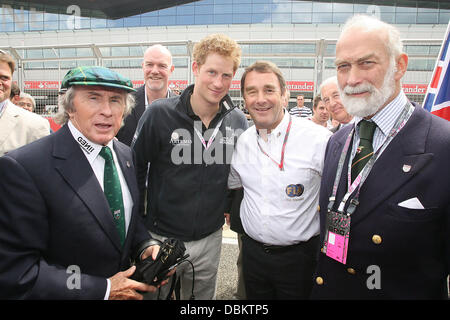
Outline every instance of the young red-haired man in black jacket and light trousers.
POLYGON ((181 299, 191 297, 193 285, 196 299, 215 298, 229 163, 248 126, 227 94, 240 56, 239 45, 225 35, 197 43, 194 85, 154 102, 132 144, 148 229, 155 238, 184 241, 195 267, 195 283, 188 264, 177 268, 181 299))

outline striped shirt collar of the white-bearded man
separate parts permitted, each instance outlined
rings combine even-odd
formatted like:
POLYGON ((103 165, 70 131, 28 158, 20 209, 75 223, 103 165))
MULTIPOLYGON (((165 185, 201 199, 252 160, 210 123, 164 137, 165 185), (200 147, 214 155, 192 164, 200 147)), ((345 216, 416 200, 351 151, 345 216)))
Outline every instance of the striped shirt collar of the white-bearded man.
MULTIPOLYGON (((394 98, 390 103, 388 103, 383 109, 378 111, 371 120, 375 122, 377 127, 381 130, 384 136, 387 136, 395 124, 398 116, 403 110, 403 107, 408 102, 403 90, 394 98)), ((355 126, 363 119, 361 117, 354 117, 355 126)))

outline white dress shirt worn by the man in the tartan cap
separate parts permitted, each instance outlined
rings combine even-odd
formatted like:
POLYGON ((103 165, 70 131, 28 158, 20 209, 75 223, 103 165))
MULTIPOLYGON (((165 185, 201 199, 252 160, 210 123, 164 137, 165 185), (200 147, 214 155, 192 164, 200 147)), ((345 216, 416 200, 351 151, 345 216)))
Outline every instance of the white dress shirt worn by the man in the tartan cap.
MULTIPOLYGON (((92 171, 94 171, 95 177, 98 180, 98 183, 100 184, 100 187, 104 191, 103 187, 103 176, 104 176, 104 170, 105 170, 105 159, 103 159, 102 156, 99 155, 100 151, 102 150, 102 145, 99 145, 97 143, 94 143, 90 141, 88 138, 86 138, 75 126, 72 124, 72 122, 69 120, 68 122, 69 130, 72 133, 72 136, 74 137, 75 141, 78 142, 78 137, 82 137, 85 141, 87 141, 92 148, 83 148, 81 147, 81 150, 83 150, 84 155, 86 156, 86 159, 88 160, 89 164, 92 167, 92 171), (89 149, 89 151, 87 150, 89 149)), ((133 209, 133 199, 131 198, 130 189, 128 188, 128 185, 126 183, 125 177, 123 176, 122 169, 120 168, 119 162, 117 160, 116 152, 114 151, 113 147, 113 141, 111 140, 106 145, 108 146, 113 155, 114 164, 117 169, 117 173, 119 175, 120 180, 120 186, 122 188, 122 198, 123 198, 123 207, 125 210, 125 235, 128 231, 128 226, 130 224, 131 219, 131 211, 133 209)), ((112 216, 111 216, 112 219, 112 216)), ((111 284, 109 279, 107 279, 107 289, 105 294, 105 300, 109 298, 110 288, 111 284)))

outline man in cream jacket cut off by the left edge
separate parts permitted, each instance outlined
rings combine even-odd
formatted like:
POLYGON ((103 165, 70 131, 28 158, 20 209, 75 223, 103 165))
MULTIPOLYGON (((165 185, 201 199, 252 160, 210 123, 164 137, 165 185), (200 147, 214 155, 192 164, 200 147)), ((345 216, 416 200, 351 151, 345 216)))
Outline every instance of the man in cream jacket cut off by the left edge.
POLYGON ((14 68, 13 58, 0 50, 0 156, 50 133, 46 119, 9 100, 14 68))

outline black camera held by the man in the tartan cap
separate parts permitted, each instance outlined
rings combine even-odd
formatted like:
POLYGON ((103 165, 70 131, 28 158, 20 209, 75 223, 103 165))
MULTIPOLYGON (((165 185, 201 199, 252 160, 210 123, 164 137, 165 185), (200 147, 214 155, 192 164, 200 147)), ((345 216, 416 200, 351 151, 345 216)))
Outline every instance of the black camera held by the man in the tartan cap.
POLYGON ((131 279, 153 286, 160 284, 167 279, 170 270, 189 257, 188 254, 184 255, 185 251, 186 247, 182 241, 174 238, 166 239, 161 244, 155 260, 150 256, 136 263, 136 271, 131 279))

